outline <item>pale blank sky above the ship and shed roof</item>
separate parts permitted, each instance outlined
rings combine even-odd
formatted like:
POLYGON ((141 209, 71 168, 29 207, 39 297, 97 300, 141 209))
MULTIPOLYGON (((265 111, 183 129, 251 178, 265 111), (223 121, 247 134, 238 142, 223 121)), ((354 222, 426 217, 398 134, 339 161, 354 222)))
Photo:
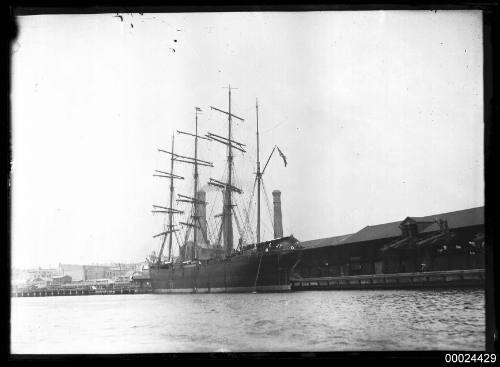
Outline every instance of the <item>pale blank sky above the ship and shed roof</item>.
MULTIPOLYGON (((192 156, 199 132, 227 135, 250 203, 256 99, 264 173, 299 240, 484 205, 479 11, 37 15, 12 43, 13 267, 140 262, 160 239, 168 170, 158 149, 192 156), (225 87, 225 88, 224 88, 225 87)), ((209 177, 225 147, 200 141, 209 177)), ((189 166, 189 167, 187 167, 189 166)), ((192 196, 192 166, 176 193, 192 196)), ((263 239, 272 238, 263 194, 263 239), (267 219, 266 219, 267 218, 267 219)), ((250 206, 249 206, 250 205, 250 206)), ((212 204, 207 213, 219 214, 212 204)), ((182 220, 179 218, 178 220, 182 220)), ((216 232, 216 223, 209 225, 216 232)), ((237 230, 235 229, 235 238, 237 230)), ((251 237, 251 236, 250 236, 251 237)), ((249 237, 249 238, 250 238, 249 237)))

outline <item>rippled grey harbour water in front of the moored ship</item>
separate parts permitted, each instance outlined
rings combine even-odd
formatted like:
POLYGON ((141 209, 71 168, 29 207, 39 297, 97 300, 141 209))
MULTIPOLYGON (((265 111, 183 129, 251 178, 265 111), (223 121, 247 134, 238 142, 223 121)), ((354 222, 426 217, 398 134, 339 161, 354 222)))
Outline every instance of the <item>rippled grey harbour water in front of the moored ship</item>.
POLYGON ((484 350, 482 289, 11 299, 11 353, 484 350))

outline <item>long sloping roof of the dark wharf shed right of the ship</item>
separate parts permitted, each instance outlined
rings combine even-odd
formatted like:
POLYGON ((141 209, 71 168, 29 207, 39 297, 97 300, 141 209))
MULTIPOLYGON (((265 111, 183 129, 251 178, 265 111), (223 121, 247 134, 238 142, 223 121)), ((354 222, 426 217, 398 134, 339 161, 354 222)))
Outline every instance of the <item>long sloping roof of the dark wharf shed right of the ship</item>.
MULTIPOLYGON (((471 227, 475 225, 484 224, 484 206, 471 209, 457 210, 448 213, 428 215, 425 217, 410 217, 410 218, 412 218, 416 222, 433 222, 434 220, 439 220, 439 219, 447 220, 448 228, 450 229, 460 228, 460 227, 471 227)), ((360 231, 353 234, 322 238, 312 241, 305 241, 301 242, 300 244, 304 246, 306 249, 309 249, 309 248, 336 246, 347 243, 400 237, 401 229, 399 228, 399 225, 403 220, 404 219, 399 220, 397 222, 377 224, 374 226, 366 226, 360 231)), ((423 231, 421 231, 421 233, 429 233, 434 231, 439 231, 439 225, 437 223, 430 224, 423 231)))

